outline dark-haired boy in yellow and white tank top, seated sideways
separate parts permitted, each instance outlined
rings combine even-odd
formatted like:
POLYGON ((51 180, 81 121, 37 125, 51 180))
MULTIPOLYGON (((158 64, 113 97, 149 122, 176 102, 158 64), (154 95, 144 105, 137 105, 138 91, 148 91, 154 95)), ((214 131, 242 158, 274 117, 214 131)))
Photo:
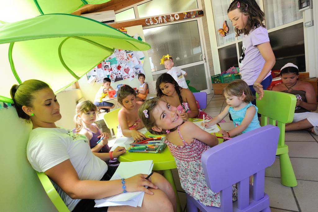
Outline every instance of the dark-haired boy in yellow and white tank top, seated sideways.
POLYGON ((103 85, 97 91, 94 99, 94 105, 97 106, 98 111, 100 109, 104 109, 107 113, 110 111, 110 108, 114 108, 114 104, 110 102, 103 101, 102 99, 107 96, 107 91, 114 90, 112 86, 110 86, 110 79, 108 77, 103 79, 103 85))

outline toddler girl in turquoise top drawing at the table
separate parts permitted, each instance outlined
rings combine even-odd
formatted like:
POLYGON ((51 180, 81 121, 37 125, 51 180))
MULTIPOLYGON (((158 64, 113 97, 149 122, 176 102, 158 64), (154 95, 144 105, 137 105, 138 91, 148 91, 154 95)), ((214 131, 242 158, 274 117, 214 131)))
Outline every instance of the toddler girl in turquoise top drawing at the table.
POLYGON ((205 127, 219 123, 229 113, 233 119, 234 129, 228 132, 220 130, 219 133, 225 137, 246 133, 260 127, 257 117, 258 109, 251 102, 255 97, 245 81, 241 79, 233 80, 223 89, 223 96, 226 99, 227 106, 217 117, 205 122, 205 127))

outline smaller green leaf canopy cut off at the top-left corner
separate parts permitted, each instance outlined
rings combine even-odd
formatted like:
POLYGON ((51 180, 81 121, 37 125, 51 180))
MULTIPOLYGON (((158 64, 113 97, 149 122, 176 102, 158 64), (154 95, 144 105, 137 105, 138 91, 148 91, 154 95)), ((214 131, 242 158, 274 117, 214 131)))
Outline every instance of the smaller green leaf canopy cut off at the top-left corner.
POLYGON ((0 22, 15 22, 49 13, 72 13, 85 4, 101 4, 110 0, 4 0, 0 6, 0 22))

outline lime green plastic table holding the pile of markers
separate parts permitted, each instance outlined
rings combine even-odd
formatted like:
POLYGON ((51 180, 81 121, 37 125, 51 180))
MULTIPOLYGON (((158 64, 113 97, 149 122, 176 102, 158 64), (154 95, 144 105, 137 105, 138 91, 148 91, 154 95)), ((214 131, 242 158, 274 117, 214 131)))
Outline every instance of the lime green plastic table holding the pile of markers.
MULTIPOLYGON (((202 121, 202 119, 189 119, 189 121, 202 121)), ((220 127, 219 127, 220 128, 220 127)), ((149 133, 149 132, 148 132, 149 133)), ((217 136, 222 136, 219 133, 216 133, 217 136)), ((218 139, 219 143, 223 142, 223 139, 218 139)), ((177 211, 181 212, 181 204, 179 200, 179 195, 176 189, 175 181, 172 176, 171 169, 177 168, 175 159, 173 158, 172 154, 168 147, 166 147, 162 153, 157 154, 150 154, 150 153, 136 153, 136 152, 128 152, 126 151, 125 154, 122 154, 118 157, 118 161, 120 162, 132 162, 132 161, 144 161, 144 160, 152 160, 154 163, 154 167, 152 170, 159 171, 163 170, 163 176, 170 182, 177 201, 177 211)))

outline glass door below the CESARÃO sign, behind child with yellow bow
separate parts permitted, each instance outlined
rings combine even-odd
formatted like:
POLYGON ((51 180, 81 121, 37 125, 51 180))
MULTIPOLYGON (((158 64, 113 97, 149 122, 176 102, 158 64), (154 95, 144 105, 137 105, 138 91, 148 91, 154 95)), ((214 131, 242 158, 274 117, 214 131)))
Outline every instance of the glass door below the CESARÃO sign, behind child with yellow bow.
POLYGON ((199 19, 143 28, 151 45, 148 55, 154 80, 167 72, 160 59, 169 54, 174 66, 187 72, 185 79, 190 80, 190 86, 211 93, 201 29, 199 19))

